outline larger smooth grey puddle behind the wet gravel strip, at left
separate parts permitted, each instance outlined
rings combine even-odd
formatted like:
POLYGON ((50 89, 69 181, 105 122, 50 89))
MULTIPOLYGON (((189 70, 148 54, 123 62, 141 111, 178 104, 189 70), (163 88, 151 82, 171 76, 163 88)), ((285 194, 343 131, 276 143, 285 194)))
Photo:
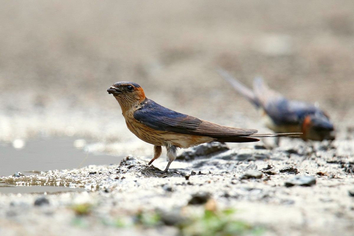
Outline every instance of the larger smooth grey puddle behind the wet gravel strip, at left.
POLYGON ((73 169, 88 165, 119 163, 122 157, 84 152, 74 147, 76 138, 38 139, 16 149, 13 144, 0 144, 0 176, 21 172, 36 174, 53 169, 73 169))

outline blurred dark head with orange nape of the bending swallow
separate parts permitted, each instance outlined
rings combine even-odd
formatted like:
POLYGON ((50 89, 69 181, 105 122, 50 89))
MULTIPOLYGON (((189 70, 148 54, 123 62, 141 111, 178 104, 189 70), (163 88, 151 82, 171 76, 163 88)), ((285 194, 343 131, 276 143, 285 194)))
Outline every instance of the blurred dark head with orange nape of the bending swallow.
POLYGON ((302 123, 303 138, 322 141, 334 140, 335 131, 328 116, 323 113, 307 115, 302 123))

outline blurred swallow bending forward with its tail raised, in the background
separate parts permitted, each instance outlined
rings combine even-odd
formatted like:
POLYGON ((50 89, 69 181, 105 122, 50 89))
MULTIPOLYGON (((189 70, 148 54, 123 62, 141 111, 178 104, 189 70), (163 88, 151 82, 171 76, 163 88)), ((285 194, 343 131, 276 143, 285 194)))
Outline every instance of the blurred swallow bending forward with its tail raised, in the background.
POLYGON ((333 124, 329 120, 329 116, 315 105, 288 100, 280 93, 271 90, 261 78, 255 79, 252 91, 235 80, 225 70, 218 69, 218 73, 259 108, 265 125, 274 132, 302 133, 300 137, 303 140, 335 139, 333 124))

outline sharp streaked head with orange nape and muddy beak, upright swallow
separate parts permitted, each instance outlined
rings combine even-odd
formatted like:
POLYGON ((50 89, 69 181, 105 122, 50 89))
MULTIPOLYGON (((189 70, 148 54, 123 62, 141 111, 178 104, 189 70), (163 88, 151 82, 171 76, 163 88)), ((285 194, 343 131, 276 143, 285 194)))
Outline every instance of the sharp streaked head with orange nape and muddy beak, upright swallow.
POLYGON ((131 106, 136 106, 145 99, 143 88, 129 81, 116 82, 113 86, 108 88, 107 92, 113 94, 122 109, 123 107, 126 109, 131 106))

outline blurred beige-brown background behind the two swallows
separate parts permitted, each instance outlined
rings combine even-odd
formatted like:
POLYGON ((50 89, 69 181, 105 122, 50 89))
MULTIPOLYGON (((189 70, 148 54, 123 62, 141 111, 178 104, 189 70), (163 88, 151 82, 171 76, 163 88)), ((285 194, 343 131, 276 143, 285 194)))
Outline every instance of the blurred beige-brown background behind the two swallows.
POLYGON ((350 0, 2 1, 0 141, 74 137, 78 148, 91 140, 114 155, 150 154, 106 91, 117 81, 181 113, 270 132, 217 67, 318 102, 341 132, 354 115, 353 9, 350 0))

